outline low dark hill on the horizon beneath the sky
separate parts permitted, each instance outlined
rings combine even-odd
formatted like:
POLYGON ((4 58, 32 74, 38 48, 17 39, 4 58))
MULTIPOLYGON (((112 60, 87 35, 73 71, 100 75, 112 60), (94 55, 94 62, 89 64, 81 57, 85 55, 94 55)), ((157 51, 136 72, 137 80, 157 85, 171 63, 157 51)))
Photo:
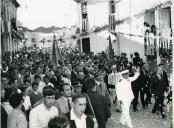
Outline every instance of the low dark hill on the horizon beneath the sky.
POLYGON ((55 27, 55 26, 48 27, 48 28, 38 27, 38 28, 34 29, 33 32, 51 33, 51 32, 54 32, 55 30, 60 30, 60 29, 62 29, 62 28, 55 27))

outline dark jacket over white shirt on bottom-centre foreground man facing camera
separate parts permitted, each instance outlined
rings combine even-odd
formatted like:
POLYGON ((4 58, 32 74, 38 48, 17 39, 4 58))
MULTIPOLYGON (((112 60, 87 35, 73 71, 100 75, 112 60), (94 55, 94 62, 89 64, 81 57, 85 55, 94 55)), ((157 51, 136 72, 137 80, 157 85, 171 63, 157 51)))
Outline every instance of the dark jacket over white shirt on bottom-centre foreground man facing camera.
MULTIPOLYGON (((66 113, 66 116, 70 121, 70 128, 77 128, 75 121, 70 119, 70 112, 66 113)), ((90 116, 86 117, 86 128, 94 128, 94 122, 90 116)))

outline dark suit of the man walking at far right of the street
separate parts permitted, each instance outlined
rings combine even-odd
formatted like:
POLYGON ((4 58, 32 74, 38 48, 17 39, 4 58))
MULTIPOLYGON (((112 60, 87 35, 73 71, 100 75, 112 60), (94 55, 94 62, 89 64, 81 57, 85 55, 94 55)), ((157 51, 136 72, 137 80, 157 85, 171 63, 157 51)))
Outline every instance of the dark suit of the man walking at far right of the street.
POLYGON ((152 113, 155 113, 158 109, 163 116, 164 110, 162 105, 164 102, 164 92, 167 91, 167 84, 163 77, 161 77, 161 79, 159 79, 157 75, 152 77, 151 91, 155 96, 155 105, 153 107, 152 113))

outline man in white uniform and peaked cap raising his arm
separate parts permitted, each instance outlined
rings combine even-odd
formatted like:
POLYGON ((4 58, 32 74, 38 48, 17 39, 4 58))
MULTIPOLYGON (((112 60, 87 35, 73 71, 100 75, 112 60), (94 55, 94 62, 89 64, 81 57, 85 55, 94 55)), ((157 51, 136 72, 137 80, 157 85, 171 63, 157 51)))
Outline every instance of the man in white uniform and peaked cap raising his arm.
POLYGON ((118 101, 121 104, 122 112, 120 117, 120 123, 122 125, 127 125, 129 128, 133 128, 131 118, 129 115, 129 107, 131 101, 134 98, 131 82, 136 80, 140 75, 140 69, 136 69, 136 73, 133 77, 129 77, 129 70, 124 70, 121 72, 122 78, 117 82, 116 93, 118 101))

